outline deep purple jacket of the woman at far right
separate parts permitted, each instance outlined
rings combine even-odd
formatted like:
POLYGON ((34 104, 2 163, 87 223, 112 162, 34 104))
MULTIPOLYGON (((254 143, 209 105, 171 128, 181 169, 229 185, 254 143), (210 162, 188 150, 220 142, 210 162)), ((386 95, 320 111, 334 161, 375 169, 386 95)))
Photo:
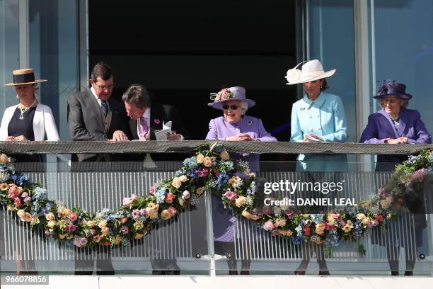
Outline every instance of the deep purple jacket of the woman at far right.
MULTIPOLYGON (((361 140, 364 144, 383 144, 384 138, 408 137, 409 144, 429 144, 432 137, 422 123, 421 115, 413 109, 403 108, 400 111, 398 129, 393 125, 388 113, 382 108, 377 113, 369 115, 369 121, 362 132, 361 140)), ((404 162, 408 156, 397 154, 383 154, 377 156, 376 171, 392 171, 396 164, 404 162)))

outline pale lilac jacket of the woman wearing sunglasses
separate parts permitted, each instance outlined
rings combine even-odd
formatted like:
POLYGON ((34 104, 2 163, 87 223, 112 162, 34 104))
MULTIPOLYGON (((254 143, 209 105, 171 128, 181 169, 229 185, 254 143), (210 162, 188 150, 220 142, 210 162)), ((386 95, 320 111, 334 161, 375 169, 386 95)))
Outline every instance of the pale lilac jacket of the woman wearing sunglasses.
MULTIPOLYGON (((214 118, 209 123, 206 140, 226 140, 226 137, 240 132, 248 133, 251 138, 260 140, 260 142, 277 142, 277 139, 265 130, 262 120, 248 115, 245 115, 236 124, 229 123, 223 116, 214 118)), ((231 159, 243 159, 249 162, 251 171, 258 171, 259 169, 258 154, 231 154, 231 159)))

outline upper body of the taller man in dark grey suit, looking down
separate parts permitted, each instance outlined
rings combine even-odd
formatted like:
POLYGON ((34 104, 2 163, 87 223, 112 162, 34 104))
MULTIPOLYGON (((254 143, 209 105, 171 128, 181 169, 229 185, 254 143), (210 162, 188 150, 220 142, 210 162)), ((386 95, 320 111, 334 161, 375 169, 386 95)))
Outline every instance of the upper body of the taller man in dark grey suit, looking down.
MULTIPOLYGON (((122 103, 110 98, 114 86, 112 70, 96 64, 89 80, 91 88, 68 97, 68 125, 72 140, 128 140, 126 113, 122 103)), ((79 154, 79 162, 110 160, 103 154, 79 154)))

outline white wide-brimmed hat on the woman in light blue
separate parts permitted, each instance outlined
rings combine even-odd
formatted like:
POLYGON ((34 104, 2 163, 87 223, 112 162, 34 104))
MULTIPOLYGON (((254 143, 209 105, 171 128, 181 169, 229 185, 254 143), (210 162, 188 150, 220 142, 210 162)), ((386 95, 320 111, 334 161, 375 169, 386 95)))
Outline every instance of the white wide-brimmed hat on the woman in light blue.
POLYGON ((318 60, 310 60, 302 65, 301 70, 297 69, 297 67, 302 63, 304 62, 299 63, 296 67, 287 71, 285 78, 287 79, 288 85, 303 84, 304 82, 331 77, 337 71, 337 69, 331 69, 330 71, 325 72, 321 62, 318 60))

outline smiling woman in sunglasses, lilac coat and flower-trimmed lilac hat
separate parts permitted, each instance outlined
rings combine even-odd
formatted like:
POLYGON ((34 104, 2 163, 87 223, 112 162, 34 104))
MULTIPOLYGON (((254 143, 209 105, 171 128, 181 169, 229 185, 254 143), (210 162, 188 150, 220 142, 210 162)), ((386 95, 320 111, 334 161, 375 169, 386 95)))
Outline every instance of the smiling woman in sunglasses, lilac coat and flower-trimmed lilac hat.
MULTIPOLYGON (((219 109, 223 115, 209 123, 206 140, 229 140, 246 142, 277 142, 263 127, 262 120, 245 115, 248 108, 255 106, 255 101, 246 98, 246 90, 241 86, 222 89, 211 94, 209 106, 219 109)), ((248 162, 251 171, 259 170, 258 154, 230 154, 231 159, 242 159, 248 162)), ((215 252, 228 255, 229 273, 236 275, 237 262, 234 258, 234 235, 236 217, 228 214, 221 203, 221 198, 212 194, 212 219, 214 220, 215 252)), ((241 274, 249 274, 250 260, 242 260, 241 274)))

